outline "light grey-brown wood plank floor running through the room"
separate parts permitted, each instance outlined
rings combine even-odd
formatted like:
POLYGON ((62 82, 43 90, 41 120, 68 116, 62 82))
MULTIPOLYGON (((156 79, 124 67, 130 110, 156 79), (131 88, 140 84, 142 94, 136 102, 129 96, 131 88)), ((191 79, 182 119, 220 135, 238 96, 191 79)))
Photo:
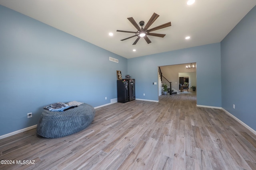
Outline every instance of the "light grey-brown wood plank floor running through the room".
POLYGON ((196 107, 196 94, 160 96, 96 109, 93 123, 58 139, 36 129, 0 140, 0 165, 31 170, 256 170, 256 135, 220 109, 196 107))

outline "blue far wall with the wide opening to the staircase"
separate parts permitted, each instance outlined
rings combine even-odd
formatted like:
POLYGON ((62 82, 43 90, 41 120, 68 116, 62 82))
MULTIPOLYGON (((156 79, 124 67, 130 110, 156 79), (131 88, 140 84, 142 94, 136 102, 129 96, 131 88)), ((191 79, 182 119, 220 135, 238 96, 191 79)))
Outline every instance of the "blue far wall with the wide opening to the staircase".
POLYGON ((196 62, 197 104, 221 107, 220 43, 128 59, 136 98, 158 101, 158 66, 196 62), (145 94, 145 96, 143 96, 145 94))

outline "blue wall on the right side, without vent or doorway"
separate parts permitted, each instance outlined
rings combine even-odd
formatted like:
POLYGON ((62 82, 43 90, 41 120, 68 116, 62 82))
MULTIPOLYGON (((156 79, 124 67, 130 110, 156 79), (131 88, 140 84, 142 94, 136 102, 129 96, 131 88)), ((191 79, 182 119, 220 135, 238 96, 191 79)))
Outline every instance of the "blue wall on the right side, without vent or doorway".
POLYGON ((221 42, 221 64, 222 107, 256 130, 256 6, 221 42))

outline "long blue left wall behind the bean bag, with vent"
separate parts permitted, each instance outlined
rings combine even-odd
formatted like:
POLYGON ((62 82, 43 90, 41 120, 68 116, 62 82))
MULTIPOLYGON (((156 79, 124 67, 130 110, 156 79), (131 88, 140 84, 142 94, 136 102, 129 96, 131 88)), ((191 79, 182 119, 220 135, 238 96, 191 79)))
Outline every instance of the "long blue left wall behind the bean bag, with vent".
POLYGON ((110 103, 116 70, 127 74, 126 58, 0 6, 0 136, 36 125, 48 104, 110 103))

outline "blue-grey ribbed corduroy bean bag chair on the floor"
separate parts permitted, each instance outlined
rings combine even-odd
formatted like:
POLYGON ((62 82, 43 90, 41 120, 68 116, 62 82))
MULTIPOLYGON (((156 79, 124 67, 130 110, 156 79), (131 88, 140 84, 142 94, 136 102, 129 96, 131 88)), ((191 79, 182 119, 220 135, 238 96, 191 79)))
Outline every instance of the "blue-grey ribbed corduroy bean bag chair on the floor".
POLYGON ((58 138, 82 131, 88 127, 95 115, 89 104, 81 104, 66 111, 44 110, 37 124, 37 134, 46 138, 58 138))

